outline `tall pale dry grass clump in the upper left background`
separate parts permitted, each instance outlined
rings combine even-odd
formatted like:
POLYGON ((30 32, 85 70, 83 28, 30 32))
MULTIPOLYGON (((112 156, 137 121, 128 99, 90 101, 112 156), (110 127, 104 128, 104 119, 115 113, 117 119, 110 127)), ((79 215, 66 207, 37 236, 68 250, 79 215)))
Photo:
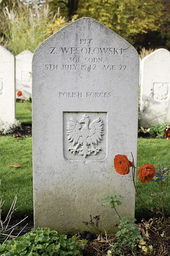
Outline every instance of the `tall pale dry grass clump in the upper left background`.
POLYGON ((14 55, 24 50, 34 52, 35 48, 49 36, 49 24, 56 15, 43 3, 36 1, 31 5, 19 0, 13 1, 12 7, 5 6, 1 12, 0 44, 14 55))

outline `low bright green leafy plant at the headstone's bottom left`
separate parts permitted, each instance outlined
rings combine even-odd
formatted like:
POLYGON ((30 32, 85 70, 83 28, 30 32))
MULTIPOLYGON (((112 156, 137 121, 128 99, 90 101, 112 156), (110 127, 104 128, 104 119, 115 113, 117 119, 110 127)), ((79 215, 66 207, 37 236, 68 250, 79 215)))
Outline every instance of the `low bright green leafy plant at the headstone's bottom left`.
POLYGON ((87 240, 79 237, 67 239, 66 235, 59 235, 49 228, 37 228, 24 236, 6 241, 0 247, 1 256, 65 256, 82 255, 87 240))

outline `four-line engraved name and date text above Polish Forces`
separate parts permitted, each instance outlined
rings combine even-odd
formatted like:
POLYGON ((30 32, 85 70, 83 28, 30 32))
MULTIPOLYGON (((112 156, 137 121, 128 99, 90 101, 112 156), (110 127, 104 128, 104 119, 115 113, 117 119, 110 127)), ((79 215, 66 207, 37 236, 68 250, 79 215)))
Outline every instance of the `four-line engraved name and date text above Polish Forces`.
MULTIPOLYGON (((118 48, 115 45, 104 45, 99 47, 98 44, 95 47, 95 40, 92 38, 78 39, 79 45, 60 47, 52 45, 49 47, 49 53, 53 56, 59 53, 63 56, 63 63, 55 63, 55 65, 45 65, 45 70, 62 70, 74 71, 82 70, 85 72, 93 72, 95 70, 102 71, 126 71, 127 66, 125 63, 114 65, 112 60, 109 60, 109 56, 122 56, 127 48, 118 48), (109 63, 110 62, 110 63, 109 63), (104 63, 104 65, 102 65, 104 63), (57 65, 58 64, 58 65, 57 65)), ((96 42, 97 43, 97 42, 96 42)))

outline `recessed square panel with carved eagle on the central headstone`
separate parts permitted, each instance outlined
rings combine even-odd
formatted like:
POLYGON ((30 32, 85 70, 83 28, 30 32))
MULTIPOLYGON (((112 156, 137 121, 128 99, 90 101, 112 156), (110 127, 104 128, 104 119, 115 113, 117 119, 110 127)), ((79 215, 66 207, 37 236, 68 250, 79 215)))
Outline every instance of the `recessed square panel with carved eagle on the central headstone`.
POLYGON ((64 157, 68 160, 106 158, 107 113, 63 113, 64 157))

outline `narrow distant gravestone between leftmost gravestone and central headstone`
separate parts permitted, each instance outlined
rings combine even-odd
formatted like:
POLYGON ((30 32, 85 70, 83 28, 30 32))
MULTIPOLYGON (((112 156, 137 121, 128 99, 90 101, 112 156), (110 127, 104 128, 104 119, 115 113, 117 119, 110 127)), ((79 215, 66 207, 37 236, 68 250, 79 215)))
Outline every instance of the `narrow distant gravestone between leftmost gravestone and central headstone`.
MULTIPOLYGON (((33 53, 25 50, 19 53, 16 58, 16 94, 22 91, 20 98, 32 97, 32 56, 33 53)), ((16 95, 18 98, 18 96, 16 95)))

